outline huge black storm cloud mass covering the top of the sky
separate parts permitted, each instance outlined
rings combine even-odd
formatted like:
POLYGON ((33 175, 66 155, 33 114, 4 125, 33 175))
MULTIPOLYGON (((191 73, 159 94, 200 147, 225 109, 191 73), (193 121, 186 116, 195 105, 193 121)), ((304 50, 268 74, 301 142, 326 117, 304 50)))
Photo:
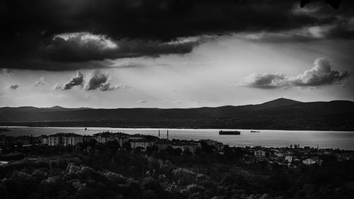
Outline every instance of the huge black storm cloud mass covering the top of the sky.
MULTIPOLYGON (((296 13, 295 0, 0 0, 0 59, 8 68, 67 70, 91 68, 95 60, 184 54, 200 41, 176 42, 180 38, 346 24, 353 18, 352 4, 343 1, 334 10, 321 1, 315 11, 296 13), (62 33, 91 33, 103 40, 56 37, 62 33), (105 39, 117 47, 107 48, 105 39)), ((341 25, 328 35, 348 38, 350 31, 341 25)), ((97 67, 104 66, 92 68, 97 67)))

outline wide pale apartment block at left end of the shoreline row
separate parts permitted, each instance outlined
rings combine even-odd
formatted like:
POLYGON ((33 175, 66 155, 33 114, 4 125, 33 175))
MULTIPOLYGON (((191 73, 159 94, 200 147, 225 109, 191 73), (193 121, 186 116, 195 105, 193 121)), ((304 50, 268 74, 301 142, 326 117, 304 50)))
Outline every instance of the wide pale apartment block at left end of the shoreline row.
POLYGON ((68 146, 84 142, 84 136, 78 135, 74 132, 60 132, 48 136, 48 145, 50 146, 68 146))

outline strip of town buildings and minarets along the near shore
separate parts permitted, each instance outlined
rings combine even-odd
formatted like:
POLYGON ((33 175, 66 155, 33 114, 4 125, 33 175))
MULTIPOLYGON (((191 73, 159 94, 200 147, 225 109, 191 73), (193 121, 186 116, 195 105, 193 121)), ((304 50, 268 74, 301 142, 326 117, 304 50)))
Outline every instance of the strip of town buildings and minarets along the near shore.
MULTIPOLYGON (((116 143, 120 148, 137 149, 145 152, 147 149, 156 149, 161 152, 168 148, 178 150, 179 154, 197 154, 202 149, 210 149, 210 152, 224 154, 224 148, 241 151, 241 161, 244 164, 257 164, 260 162, 268 165, 278 164, 287 169, 295 169, 302 165, 317 164, 321 166, 321 157, 331 155, 337 161, 347 161, 354 159, 352 151, 340 149, 319 149, 312 147, 299 147, 297 144, 290 144, 288 147, 229 147, 227 144, 215 140, 169 140, 169 131, 166 138, 153 135, 134 134, 129 135, 124 132, 98 132, 93 135, 79 135, 74 132, 58 132, 53 135, 40 135, 33 137, 22 135, 18 137, 0 136, 0 161, 2 164, 11 160, 11 157, 20 156, 16 149, 31 146, 75 146, 84 142, 97 142, 105 144, 107 142, 116 143), (5 161, 7 160, 7 161, 5 161)), ((16 159, 15 158, 15 159, 16 159)))

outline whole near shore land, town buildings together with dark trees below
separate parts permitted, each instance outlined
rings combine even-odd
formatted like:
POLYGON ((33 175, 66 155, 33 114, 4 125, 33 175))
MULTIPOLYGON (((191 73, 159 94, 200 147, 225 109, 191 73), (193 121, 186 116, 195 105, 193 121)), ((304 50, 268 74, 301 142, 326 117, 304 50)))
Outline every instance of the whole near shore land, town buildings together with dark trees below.
POLYGON ((0 150, 4 198, 350 198, 354 191, 354 152, 343 149, 107 131, 1 135, 0 150))

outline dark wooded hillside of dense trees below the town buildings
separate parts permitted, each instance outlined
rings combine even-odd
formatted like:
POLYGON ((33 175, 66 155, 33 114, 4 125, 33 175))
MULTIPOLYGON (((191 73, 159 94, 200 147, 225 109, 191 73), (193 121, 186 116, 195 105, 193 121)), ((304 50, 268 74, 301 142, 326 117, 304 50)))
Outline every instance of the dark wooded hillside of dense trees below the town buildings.
POLYGON ((321 166, 244 164, 245 148, 197 154, 171 147, 130 149, 94 141, 19 147, 22 161, 0 166, 1 198, 351 198, 354 162, 328 156, 321 166))

